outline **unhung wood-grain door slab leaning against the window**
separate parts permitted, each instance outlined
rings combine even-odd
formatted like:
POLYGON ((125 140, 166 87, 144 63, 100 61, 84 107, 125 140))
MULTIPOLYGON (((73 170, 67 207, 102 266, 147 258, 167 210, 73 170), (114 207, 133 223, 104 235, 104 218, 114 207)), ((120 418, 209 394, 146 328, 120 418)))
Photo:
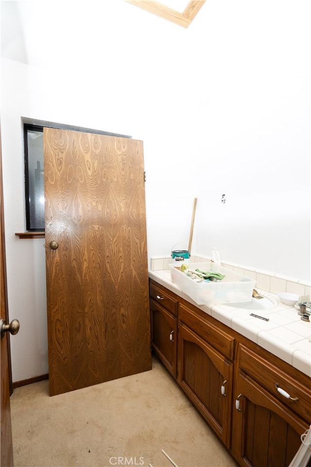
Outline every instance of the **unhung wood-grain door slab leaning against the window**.
POLYGON ((142 141, 45 128, 44 174, 50 394, 150 370, 142 141))

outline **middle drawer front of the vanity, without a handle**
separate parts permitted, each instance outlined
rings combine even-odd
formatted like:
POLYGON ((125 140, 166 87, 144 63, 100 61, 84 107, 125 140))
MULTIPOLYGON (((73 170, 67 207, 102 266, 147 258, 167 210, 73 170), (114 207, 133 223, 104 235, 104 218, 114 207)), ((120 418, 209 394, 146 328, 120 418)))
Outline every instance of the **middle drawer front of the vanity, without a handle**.
POLYGON ((233 360, 234 357, 234 337, 218 329, 212 323, 197 315, 193 310, 179 304, 179 319, 187 324, 199 336, 209 342, 213 347, 219 350, 223 355, 233 360))

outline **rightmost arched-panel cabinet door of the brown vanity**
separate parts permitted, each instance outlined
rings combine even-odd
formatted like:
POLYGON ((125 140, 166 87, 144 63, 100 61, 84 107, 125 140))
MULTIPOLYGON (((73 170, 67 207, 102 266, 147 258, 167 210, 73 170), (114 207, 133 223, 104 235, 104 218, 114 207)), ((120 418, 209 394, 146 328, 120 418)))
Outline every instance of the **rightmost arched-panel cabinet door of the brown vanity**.
POLYGON ((287 467, 308 425, 251 378, 238 373, 233 455, 241 466, 287 467))

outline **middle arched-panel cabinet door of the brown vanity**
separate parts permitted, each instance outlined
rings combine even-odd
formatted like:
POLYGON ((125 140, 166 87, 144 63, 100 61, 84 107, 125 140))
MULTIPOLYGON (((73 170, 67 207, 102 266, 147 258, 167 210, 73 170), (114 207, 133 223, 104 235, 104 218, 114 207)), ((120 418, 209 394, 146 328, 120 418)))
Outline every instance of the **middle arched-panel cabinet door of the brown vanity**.
POLYGON ((228 448, 232 374, 232 363, 185 324, 179 324, 177 380, 228 448))

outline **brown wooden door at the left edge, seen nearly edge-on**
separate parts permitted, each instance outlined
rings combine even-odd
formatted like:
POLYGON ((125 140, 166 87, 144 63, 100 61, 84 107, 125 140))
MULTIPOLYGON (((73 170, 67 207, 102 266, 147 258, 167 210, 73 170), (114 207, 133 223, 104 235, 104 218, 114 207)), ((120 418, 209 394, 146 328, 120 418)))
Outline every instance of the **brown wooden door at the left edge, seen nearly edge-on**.
MULTIPOLYGON (((5 268, 5 243, 4 243, 4 221, 3 221, 3 192, 2 192, 2 167, 0 153, 0 282, 1 282, 1 320, 8 321, 7 313, 7 293, 6 293, 6 268, 5 268)), ((1 455, 0 465, 5 467, 13 466, 13 445, 11 429, 11 409, 10 409, 10 384, 9 384, 9 336, 5 333, 0 340, 1 352, 1 455)))

